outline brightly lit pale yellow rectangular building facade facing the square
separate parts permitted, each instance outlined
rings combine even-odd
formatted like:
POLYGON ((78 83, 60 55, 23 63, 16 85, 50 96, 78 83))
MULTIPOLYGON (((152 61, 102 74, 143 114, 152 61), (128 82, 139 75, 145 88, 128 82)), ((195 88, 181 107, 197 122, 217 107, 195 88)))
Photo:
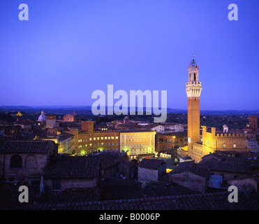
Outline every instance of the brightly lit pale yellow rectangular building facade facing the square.
POLYGON ((120 132, 121 151, 128 151, 130 158, 154 155, 156 132, 147 130, 123 130, 120 132))

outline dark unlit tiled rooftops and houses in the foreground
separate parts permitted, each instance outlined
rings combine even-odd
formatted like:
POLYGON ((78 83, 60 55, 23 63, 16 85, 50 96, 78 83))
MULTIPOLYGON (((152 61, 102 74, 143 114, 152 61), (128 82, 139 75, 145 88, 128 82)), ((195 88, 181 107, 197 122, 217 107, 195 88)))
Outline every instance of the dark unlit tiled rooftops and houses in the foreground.
POLYGON ((170 172, 166 166, 161 158, 71 156, 57 153, 53 141, 8 141, 0 148, 0 208, 258 209, 258 153, 218 151, 170 172), (18 201, 21 185, 29 203, 18 201), (239 188, 237 204, 228 202, 231 185, 239 188))

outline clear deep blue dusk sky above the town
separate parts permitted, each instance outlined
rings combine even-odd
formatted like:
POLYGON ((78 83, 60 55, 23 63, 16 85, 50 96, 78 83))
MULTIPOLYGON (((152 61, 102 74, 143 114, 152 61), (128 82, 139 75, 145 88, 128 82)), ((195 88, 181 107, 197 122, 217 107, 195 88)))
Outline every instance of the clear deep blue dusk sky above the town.
POLYGON ((200 108, 259 109, 259 1, 1 0, 0 105, 91 106, 94 90, 168 90, 187 109, 192 55, 200 108), (29 21, 20 21, 20 3, 29 21), (236 3, 239 20, 228 20, 236 3))

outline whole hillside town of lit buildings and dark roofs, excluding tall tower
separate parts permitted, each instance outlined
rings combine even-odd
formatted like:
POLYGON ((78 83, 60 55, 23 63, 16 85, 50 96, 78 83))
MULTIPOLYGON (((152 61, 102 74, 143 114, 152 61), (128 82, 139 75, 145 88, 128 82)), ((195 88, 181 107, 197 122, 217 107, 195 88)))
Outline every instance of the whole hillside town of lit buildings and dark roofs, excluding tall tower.
POLYGON ((193 154, 181 123, 13 116, 0 126, 0 209, 258 209, 257 116, 243 130, 200 127, 193 154))

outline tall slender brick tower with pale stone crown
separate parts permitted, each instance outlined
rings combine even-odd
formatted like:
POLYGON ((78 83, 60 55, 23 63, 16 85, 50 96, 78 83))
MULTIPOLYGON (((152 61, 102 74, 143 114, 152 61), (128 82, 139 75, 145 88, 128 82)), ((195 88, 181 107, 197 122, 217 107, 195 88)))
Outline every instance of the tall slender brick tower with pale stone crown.
POLYGON ((193 143, 200 142, 200 92, 199 66, 194 59, 188 66, 188 83, 186 93, 188 97, 188 155, 193 155, 193 143))

